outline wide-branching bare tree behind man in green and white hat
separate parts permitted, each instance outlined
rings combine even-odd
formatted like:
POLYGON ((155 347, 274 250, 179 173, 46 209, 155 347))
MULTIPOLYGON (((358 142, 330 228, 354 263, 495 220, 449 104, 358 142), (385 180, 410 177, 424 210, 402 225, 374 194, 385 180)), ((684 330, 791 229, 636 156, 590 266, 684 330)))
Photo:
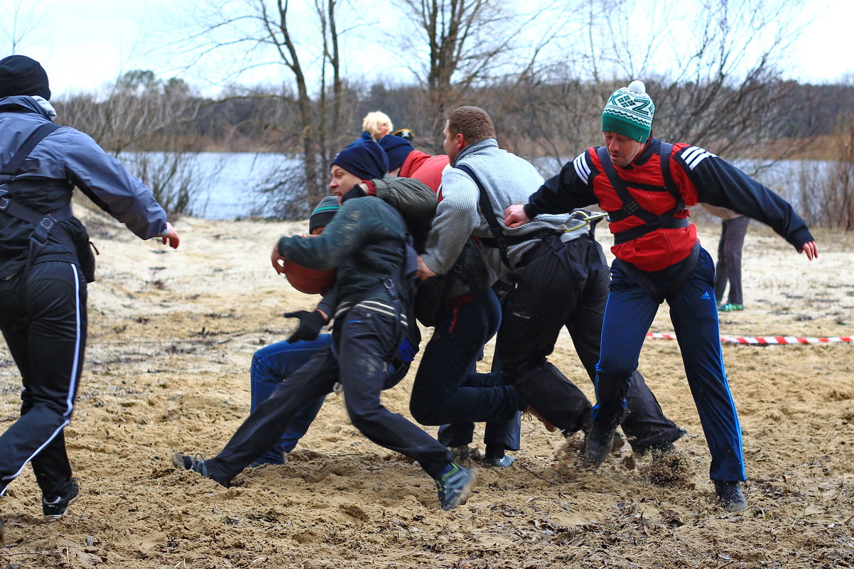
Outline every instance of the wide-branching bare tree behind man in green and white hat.
POLYGON ((804 25, 798 0, 611 0, 603 7, 588 3, 586 32, 559 43, 573 60, 535 76, 532 87, 548 86, 553 97, 538 92, 522 102, 530 128, 542 133, 535 138, 542 153, 563 162, 596 144, 605 97, 632 79, 644 80, 656 103, 656 136, 741 158, 799 150, 787 117, 808 102, 792 97, 796 85, 782 79, 804 25))

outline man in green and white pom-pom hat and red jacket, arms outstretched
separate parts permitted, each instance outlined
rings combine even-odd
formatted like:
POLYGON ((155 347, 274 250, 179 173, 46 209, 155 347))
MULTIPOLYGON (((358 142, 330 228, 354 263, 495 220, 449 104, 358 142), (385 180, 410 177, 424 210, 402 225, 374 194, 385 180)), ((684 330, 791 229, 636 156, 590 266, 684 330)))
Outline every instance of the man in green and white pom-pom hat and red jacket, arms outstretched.
POLYGON ((597 403, 586 455, 605 459, 625 412, 625 395, 658 304, 666 299, 706 442, 710 478, 722 506, 747 502, 741 430, 723 371, 715 299, 715 267, 699 247, 686 206, 722 206, 773 227, 808 259, 816 242, 792 206, 717 155, 652 137, 655 105, 640 81, 618 89, 602 112, 605 146, 568 162, 523 205, 506 208, 507 226, 542 213, 599 203, 610 214, 617 257, 602 329, 597 403))

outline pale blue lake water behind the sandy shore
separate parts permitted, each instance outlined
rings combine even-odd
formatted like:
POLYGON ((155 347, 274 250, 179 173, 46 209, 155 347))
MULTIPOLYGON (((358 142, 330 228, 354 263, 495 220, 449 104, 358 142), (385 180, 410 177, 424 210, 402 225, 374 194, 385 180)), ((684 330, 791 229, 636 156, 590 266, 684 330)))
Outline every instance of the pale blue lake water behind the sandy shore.
MULTIPOLYGON (((300 167, 298 158, 278 154, 200 152, 190 155, 188 160, 190 172, 200 186, 190 202, 190 210, 197 217, 210 220, 277 216, 275 208, 266 204, 258 189, 268 184, 271 177, 287 175, 300 167)), ((131 158, 123 161, 131 166, 131 158)), ((734 163, 748 173, 768 164, 763 161, 734 163)), ((801 173, 821 172, 827 166, 827 162, 821 161, 779 161, 759 169, 756 178, 797 209, 801 173)), ((548 177, 552 173, 544 175, 548 177)))

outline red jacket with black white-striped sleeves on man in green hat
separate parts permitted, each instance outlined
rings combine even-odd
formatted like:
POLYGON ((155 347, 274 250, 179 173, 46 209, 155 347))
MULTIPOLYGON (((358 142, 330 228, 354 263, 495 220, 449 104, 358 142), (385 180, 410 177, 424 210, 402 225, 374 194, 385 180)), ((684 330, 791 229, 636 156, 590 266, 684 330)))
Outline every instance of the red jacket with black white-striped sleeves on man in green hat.
MULTIPOLYGON (((650 138, 646 149, 629 167, 615 167, 629 194, 641 208, 653 214, 664 214, 676 208, 676 198, 664 189, 659 149, 661 141, 650 138)), ((609 214, 621 211, 623 202, 602 169, 596 147, 567 162, 557 176, 548 179, 529 197, 525 214, 559 214, 573 208, 599 203, 609 214)), ((673 144, 670 152, 670 174, 684 205, 697 202, 730 208, 771 226, 796 249, 813 240, 804 220, 791 205, 746 173, 697 146, 673 144)), ((687 218, 687 209, 673 217, 687 218)), ((610 224, 611 233, 622 232, 644 221, 634 215, 610 224)), ((693 224, 676 229, 655 229, 640 238, 611 247, 621 261, 644 271, 660 271, 685 259, 697 239, 693 224)))

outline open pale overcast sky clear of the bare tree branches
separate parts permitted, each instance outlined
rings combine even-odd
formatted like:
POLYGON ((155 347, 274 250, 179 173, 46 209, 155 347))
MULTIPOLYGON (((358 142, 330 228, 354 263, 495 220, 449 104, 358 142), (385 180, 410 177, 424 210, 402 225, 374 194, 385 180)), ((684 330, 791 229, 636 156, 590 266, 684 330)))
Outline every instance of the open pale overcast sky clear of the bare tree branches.
MULTIPOLYGON (((815 21, 804 29, 794 50, 791 77, 802 82, 831 82, 845 73, 854 74, 854 58, 850 55, 854 2, 804 3, 806 14, 815 21)), ((131 69, 150 69, 161 78, 178 74, 202 91, 211 92, 213 87, 203 85, 204 69, 185 73, 180 56, 163 47, 167 40, 162 33, 170 28, 173 35, 180 34, 170 26, 186 16, 177 10, 188 5, 180 0, 0 0, 0 26, 4 32, 0 47, 3 56, 11 50, 9 15, 17 9, 19 26, 37 25, 24 35, 16 52, 42 63, 55 96, 97 90, 131 69)), ((360 42, 359 57, 351 58, 348 71, 372 79, 371 71, 358 67, 371 50, 379 56, 379 49, 371 42, 360 42)), ((402 67, 400 70, 405 73, 402 67)))

